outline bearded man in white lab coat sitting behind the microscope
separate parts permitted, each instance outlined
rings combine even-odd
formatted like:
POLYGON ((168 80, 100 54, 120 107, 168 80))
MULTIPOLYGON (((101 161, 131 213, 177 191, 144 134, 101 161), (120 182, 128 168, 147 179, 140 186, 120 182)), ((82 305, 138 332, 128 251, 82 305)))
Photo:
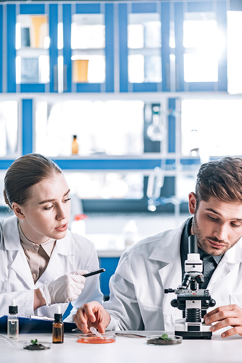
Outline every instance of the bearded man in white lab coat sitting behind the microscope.
POLYGON ((189 235, 197 235, 205 281, 216 301, 205 315, 222 337, 242 335, 242 159, 225 157, 201 165, 196 194, 189 194, 194 215, 173 230, 146 237, 120 259, 110 279, 110 300, 83 305, 74 320, 84 333, 105 330, 174 331, 182 312, 170 305, 184 273, 189 235), (230 328, 228 328, 230 327, 230 328))

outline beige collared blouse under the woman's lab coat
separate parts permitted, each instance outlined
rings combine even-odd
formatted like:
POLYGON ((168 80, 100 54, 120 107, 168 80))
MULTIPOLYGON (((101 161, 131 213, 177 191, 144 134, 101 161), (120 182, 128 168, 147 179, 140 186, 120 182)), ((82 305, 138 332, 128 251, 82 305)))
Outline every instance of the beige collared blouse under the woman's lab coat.
POLYGON ((20 242, 24 249, 30 270, 32 273, 34 284, 45 272, 48 265, 51 253, 56 245, 56 239, 49 238, 46 242, 37 244, 30 241, 21 229, 18 221, 18 230, 20 235, 20 242))

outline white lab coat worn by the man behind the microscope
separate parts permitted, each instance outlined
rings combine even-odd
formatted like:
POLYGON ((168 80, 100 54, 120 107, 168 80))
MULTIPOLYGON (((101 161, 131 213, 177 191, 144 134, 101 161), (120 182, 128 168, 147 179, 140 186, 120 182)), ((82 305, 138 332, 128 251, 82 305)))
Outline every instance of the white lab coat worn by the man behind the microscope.
MULTIPOLYGON (((170 305, 177 295, 164 294, 164 289, 181 284, 180 243, 186 221, 142 239, 122 254, 110 279, 110 300, 103 303, 111 314, 106 330, 174 331, 182 312, 170 305)), ((215 307, 237 304, 242 308, 242 238, 225 253, 208 289, 215 307)))

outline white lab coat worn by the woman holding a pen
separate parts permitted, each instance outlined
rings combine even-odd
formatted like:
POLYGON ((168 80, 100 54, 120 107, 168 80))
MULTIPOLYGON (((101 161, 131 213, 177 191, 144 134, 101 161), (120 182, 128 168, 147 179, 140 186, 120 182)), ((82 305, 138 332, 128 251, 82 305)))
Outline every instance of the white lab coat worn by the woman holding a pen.
MULTIPOLYGON (((42 306, 33 311, 33 291, 39 286, 58 279, 66 272, 99 268, 94 245, 88 239, 71 233, 56 241, 45 272, 34 284, 27 258, 20 243, 17 217, 0 220, 0 316, 8 314, 8 306, 15 299, 19 316, 54 317, 56 305, 42 306)), ((79 303, 97 300, 102 302, 99 275, 86 279, 79 303)), ((62 314, 68 303, 61 305, 62 314)))

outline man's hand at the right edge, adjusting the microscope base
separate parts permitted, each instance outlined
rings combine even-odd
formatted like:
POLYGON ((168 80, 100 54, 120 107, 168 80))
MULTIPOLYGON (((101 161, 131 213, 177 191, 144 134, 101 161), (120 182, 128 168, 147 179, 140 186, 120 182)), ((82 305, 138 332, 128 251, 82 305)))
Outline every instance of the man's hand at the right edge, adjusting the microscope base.
POLYGON ((220 306, 206 314, 204 321, 206 324, 218 321, 212 326, 211 331, 217 331, 227 326, 233 327, 221 334, 223 338, 234 334, 242 335, 242 309, 238 305, 220 306))

